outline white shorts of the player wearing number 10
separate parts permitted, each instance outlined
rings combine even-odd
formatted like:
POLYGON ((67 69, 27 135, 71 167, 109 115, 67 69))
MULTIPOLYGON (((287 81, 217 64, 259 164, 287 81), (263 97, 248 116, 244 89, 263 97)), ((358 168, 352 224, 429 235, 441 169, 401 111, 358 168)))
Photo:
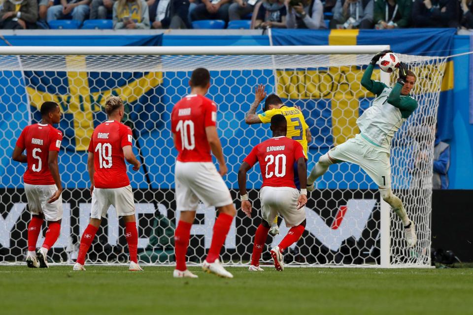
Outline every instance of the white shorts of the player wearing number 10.
POLYGON ((230 190, 212 162, 176 161, 177 211, 196 211, 199 200, 216 208, 233 204, 230 190))

